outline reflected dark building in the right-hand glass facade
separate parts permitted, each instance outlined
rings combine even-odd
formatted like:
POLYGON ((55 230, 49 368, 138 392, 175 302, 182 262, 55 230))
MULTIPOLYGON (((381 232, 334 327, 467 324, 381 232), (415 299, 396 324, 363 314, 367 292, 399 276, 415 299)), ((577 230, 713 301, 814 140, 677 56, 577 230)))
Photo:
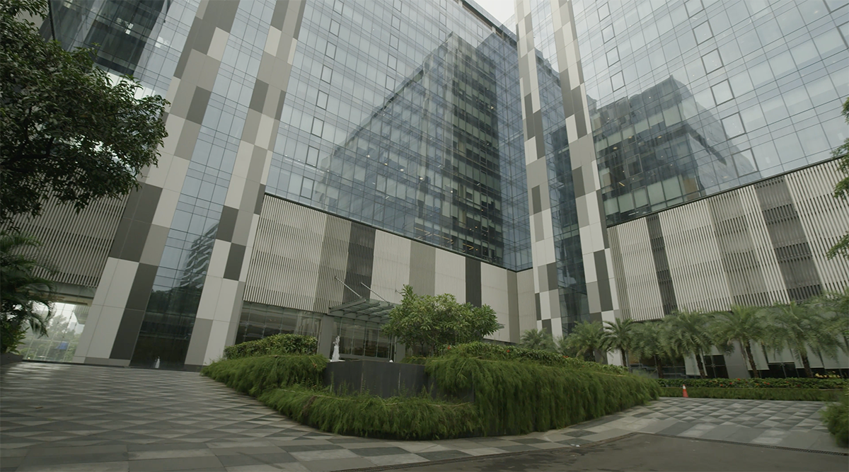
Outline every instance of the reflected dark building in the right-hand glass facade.
POLYGON ((590 119, 609 225, 761 178, 730 143, 738 124, 672 77, 601 108, 590 100, 590 119))

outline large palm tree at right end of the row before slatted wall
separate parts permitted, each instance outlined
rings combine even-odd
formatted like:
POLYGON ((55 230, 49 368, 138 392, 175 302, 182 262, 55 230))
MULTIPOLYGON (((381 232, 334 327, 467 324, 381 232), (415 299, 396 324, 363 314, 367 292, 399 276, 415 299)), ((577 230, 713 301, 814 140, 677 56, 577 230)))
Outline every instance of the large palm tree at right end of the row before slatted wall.
POLYGON ((791 301, 776 304, 769 311, 767 328, 767 346, 776 350, 790 349, 801 360, 805 375, 813 377, 811 362, 807 357, 810 349, 818 357, 837 355, 839 341, 829 319, 815 311, 811 306, 791 301))

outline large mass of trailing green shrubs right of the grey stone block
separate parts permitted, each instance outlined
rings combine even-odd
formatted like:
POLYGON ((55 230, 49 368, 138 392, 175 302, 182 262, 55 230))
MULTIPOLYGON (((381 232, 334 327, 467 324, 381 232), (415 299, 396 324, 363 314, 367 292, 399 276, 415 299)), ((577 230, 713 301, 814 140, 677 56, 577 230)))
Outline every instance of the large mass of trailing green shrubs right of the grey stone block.
POLYGON ((651 379, 631 374, 609 374, 583 365, 491 360, 472 352, 480 351, 447 351, 428 359, 425 369, 449 395, 463 397, 474 391, 474 407, 488 435, 565 428, 643 404, 661 390, 651 379))

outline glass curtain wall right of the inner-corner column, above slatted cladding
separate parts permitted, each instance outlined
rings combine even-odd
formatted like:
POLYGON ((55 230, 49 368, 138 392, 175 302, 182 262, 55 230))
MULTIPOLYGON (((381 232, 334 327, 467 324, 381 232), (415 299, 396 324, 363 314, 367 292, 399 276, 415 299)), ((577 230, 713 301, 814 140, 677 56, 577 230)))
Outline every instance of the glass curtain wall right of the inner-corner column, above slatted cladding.
POLYGON ((829 158, 841 0, 576 0, 608 224, 829 158))

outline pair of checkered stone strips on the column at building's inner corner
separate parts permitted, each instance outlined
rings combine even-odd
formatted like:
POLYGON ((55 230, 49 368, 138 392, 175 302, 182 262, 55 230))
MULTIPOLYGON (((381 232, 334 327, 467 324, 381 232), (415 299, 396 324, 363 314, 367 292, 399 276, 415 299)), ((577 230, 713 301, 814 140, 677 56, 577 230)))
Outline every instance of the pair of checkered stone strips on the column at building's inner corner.
MULTIPOLYGON (((546 1, 546 0, 543 0, 546 1)), ((589 128, 589 108, 578 52, 572 4, 566 0, 551 0, 554 42, 557 48, 560 87, 563 94, 566 135, 569 140, 572 179, 575 184, 578 223, 580 226, 582 258, 587 280, 590 317, 613 321, 619 310, 616 284, 610 257, 610 244, 601 204, 598 162, 592 130, 589 128)), ((542 115, 537 79, 537 57, 532 33, 531 0, 516 1, 518 21, 520 87, 523 119, 525 121, 525 152, 528 188, 531 200, 531 238, 533 264, 536 269, 537 302, 540 325, 548 328, 546 319, 560 317, 557 290, 554 234, 551 230, 551 202, 548 176, 545 171, 545 149, 542 136, 542 115)), ((557 327, 559 333, 559 319, 557 327)), ((611 361, 618 356, 611 355, 611 361)))

